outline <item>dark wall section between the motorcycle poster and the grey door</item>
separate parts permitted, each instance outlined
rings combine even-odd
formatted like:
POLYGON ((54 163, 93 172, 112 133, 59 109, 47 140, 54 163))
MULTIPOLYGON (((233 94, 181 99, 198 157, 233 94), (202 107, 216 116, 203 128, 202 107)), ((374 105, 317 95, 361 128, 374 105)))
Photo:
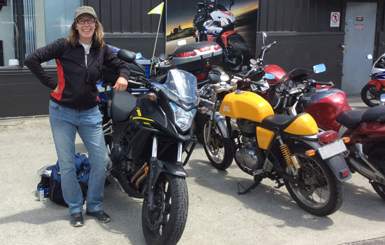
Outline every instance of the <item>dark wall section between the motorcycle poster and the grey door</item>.
POLYGON ((341 87, 344 22, 330 27, 331 12, 343 13, 343 1, 260 0, 256 50, 262 46, 261 31, 266 31, 267 43, 276 45, 265 55, 265 64, 290 71, 324 63, 327 71, 317 78, 341 87))

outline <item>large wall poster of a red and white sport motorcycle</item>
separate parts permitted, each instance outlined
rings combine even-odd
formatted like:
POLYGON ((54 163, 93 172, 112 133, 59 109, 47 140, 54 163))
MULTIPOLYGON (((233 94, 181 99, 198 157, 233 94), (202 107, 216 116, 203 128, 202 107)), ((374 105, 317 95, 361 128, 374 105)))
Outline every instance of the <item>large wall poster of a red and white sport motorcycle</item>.
POLYGON ((182 39, 214 41, 223 49, 216 65, 240 71, 255 58, 257 10, 255 0, 168 0, 166 54, 172 55, 182 39))

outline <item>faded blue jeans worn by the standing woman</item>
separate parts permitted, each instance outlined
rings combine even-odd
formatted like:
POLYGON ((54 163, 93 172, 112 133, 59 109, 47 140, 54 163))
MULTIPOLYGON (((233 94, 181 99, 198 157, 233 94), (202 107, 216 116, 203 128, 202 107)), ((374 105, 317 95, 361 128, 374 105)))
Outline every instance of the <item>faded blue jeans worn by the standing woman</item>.
POLYGON ((76 177, 75 137, 80 135, 91 163, 87 211, 102 210, 104 181, 109 157, 104 143, 102 114, 98 106, 78 111, 50 100, 50 125, 59 161, 64 201, 69 214, 83 211, 83 194, 76 177))

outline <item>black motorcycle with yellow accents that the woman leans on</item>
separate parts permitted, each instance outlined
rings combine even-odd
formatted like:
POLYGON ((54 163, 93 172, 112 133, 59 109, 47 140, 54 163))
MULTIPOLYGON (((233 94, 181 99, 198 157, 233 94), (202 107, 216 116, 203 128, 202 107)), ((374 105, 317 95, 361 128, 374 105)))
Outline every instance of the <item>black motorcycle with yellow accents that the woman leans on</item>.
POLYGON ((107 179, 130 197, 144 199, 142 228, 148 244, 176 244, 188 214, 182 153, 194 140, 197 80, 173 69, 165 84, 139 77, 129 85, 149 91, 135 97, 111 90, 107 103, 111 120, 104 125, 111 158, 107 179))

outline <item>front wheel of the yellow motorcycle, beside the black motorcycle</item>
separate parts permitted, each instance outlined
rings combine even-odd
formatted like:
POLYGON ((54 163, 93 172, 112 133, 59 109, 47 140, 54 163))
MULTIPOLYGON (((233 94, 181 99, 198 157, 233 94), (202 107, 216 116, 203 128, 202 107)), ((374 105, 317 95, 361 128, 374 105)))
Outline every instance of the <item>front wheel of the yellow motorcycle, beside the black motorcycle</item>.
POLYGON ((231 141, 223 137, 221 130, 216 123, 211 123, 211 139, 209 139, 210 118, 204 118, 202 139, 204 152, 211 164, 217 169, 227 169, 232 163, 231 141))

